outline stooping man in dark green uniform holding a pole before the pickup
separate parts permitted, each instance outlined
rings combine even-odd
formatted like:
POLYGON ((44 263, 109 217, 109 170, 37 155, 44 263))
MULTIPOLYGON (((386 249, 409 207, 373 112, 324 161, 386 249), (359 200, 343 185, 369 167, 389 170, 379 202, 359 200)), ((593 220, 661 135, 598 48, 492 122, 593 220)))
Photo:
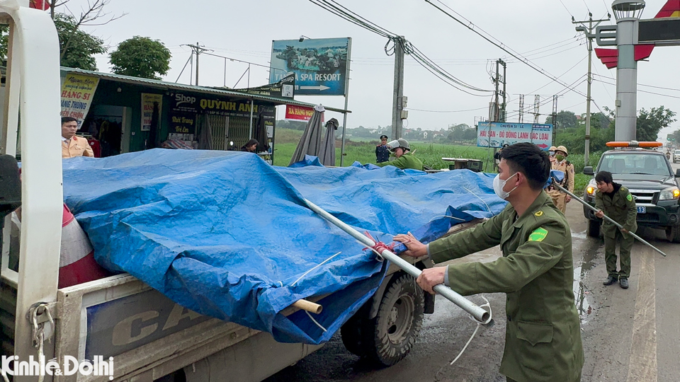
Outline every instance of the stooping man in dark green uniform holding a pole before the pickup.
POLYGON ((628 235, 638 229, 638 207, 635 206, 635 199, 630 195, 626 187, 614 183, 611 173, 600 171, 595 175, 597 192, 595 192, 595 208, 598 212, 595 216, 600 219, 606 215, 613 221, 623 226, 619 229, 608 221, 602 224, 604 234, 604 260, 607 263, 608 277, 603 283, 611 285, 618 279, 621 288, 628 289, 628 277, 630 277, 630 249, 633 248, 635 238, 628 235), (621 241, 619 249, 621 271, 616 271, 616 242, 621 241))

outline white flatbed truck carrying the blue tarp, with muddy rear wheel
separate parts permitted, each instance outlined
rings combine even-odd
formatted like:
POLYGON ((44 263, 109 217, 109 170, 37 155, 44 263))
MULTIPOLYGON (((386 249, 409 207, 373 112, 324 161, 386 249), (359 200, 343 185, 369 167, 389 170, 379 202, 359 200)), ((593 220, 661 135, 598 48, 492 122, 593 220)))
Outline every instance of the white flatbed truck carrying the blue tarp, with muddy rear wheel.
MULTIPOLYGON (((55 144, 59 42, 47 13, 28 8, 28 0, 0 1, 0 18, 10 25, 0 125, 2 370, 16 382, 261 381, 319 349, 200 316, 128 274, 57 288, 64 250, 62 159, 55 144), (19 248, 10 248, 11 211, 19 203, 19 248), (11 250, 18 250, 18 271, 8 265, 11 250), (40 354, 47 360, 42 365, 40 354)), ((423 314, 434 308, 433 297, 414 285, 390 269, 373 299, 341 329, 346 347, 385 365, 405 357, 423 314)))

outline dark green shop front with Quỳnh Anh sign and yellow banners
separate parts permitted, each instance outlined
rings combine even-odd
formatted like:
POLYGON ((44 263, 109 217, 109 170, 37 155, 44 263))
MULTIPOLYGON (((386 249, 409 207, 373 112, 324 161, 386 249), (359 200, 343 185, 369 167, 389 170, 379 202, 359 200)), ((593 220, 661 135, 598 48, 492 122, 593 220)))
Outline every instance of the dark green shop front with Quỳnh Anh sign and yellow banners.
POLYGON ((78 134, 96 140, 101 156, 168 142, 238 150, 254 138, 259 154, 271 163, 277 105, 313 106, 293 98, 62 68, 62 116, 79 120, 78 134))

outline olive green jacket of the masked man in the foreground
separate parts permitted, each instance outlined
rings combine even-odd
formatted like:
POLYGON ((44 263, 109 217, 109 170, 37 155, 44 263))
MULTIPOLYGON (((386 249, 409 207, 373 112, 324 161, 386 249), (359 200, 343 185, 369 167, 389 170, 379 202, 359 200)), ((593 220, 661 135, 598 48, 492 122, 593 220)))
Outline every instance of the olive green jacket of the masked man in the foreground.
POLYGON ((583 345, 574 303, 571 231, 541 192, 525 214, 510 204, 499 215, 429 244, 434 262, 500 245, 494 262, 449 265, 451 289, 464 296, 507 294, 500 372, 515 381, 580 381, 583 345))

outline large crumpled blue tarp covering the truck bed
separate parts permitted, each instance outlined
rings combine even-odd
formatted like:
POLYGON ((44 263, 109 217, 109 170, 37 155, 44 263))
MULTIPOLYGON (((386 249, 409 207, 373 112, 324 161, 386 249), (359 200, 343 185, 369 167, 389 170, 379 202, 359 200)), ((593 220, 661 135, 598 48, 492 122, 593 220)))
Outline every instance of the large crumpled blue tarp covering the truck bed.
POLYGON ((108 270, 129 272, 198 313, 281 342, 319 344, 370 298, 386 265, 303 197, 386 243, 408 231, 427 242, 453 224, 498 214, 506 202, 494 194, 493 176, 280 168, 249 153, 154 149, 64 160, 64 199, 108 270), (318 325, 304 311, 280 314, 326 294, 323 312, 312 315, 318 325))

